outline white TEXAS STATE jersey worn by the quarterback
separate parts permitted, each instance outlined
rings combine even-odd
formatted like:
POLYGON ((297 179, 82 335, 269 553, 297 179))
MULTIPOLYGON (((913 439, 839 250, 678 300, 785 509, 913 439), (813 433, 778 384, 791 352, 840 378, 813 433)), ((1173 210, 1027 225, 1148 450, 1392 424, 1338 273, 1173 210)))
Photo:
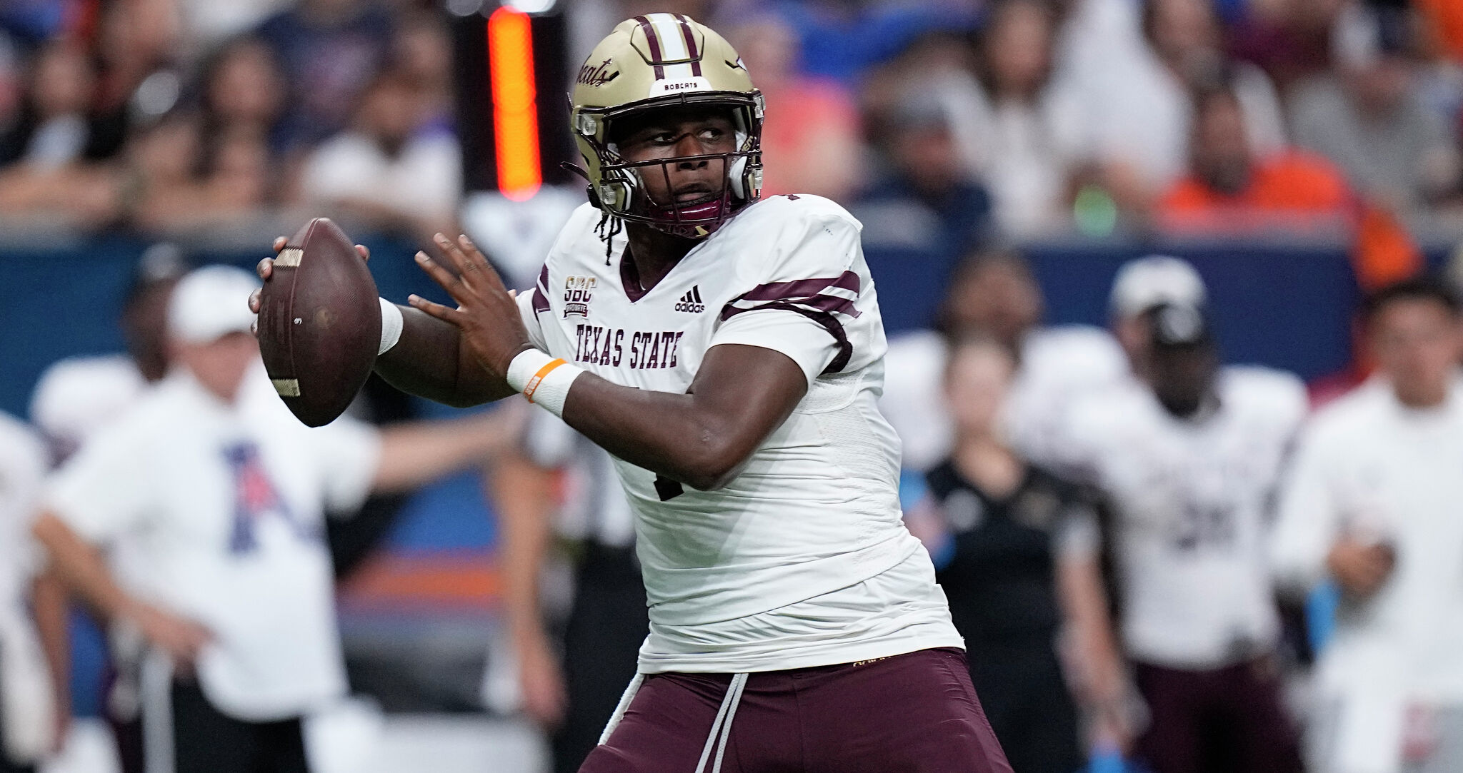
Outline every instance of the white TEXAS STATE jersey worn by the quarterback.
POLYGON ((650 603, 641 669, 774 671, 960 646, 900 517, 898 440, 875 405, 884 327, 859 222, 816 196, 764 199, 645 291, 620 257, 623 235, 606 260, 598 221, 579 207, 537 288, 519 295, 537 346, 616 384, 685 393, 707 349, 752 345, 786 354, 809 384, 721 490, 616 459, 650 603), (827 615, 850 609, 856 620, 830 636, 827 615))

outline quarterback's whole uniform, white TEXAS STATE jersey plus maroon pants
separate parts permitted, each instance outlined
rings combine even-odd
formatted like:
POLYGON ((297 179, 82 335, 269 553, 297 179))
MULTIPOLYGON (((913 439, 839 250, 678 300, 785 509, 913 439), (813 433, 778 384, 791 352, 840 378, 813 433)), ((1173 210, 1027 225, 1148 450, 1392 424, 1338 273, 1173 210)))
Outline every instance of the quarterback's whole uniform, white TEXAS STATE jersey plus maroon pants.
POLYGON ((535 346, 672 393, 712 346, 761 346, 796 362, 808 393, 720 490, 614 460, 650 636, 579 772, 808 760, 818 773, 1009 773, 929 554, 901 520, 900 444, 876 406, 887 343, 859 222, 816 196, 764 199, 647 291, 623 237, 606 253, 598 221, 590 206, 575 212, 534 291, 519 294, 535 346))

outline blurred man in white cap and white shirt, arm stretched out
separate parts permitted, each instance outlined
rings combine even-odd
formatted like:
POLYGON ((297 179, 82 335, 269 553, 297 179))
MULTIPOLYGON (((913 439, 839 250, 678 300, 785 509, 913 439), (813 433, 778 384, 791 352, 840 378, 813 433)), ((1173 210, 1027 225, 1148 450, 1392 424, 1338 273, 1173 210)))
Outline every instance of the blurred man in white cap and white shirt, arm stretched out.
POLYGON ((304 428, 263 378, 241 305, 256 286, 218 266, 177 285, 174 367, 56 473, 34 529, 72 590, 149 644, 149 769, 307 770, 300 719, 345 691, 323 510, 499 444, 493 416, 304 428), (99 548, 117 539, 145 574, 108 568, 99 548))

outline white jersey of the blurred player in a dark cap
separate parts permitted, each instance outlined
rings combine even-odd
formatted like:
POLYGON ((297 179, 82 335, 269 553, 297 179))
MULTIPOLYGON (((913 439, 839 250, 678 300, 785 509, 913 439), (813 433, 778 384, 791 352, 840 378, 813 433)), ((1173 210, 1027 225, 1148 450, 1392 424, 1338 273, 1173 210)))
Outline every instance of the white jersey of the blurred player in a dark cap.
POLYGON ((1124 640, 1170 668, 1222 666, 1279 636, 1265 539, 1305 386, 1225 368, 1216 389, 1217 408, 1194 419, 1135 378, 1072 411, 1077 456, 1116 511, 1124 640))

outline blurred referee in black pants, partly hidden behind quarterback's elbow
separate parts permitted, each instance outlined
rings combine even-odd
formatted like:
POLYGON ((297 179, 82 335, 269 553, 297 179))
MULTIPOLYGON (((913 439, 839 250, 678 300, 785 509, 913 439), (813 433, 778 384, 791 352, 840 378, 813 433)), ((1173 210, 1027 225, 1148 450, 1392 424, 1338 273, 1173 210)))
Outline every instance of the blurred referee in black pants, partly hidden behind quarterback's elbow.
POLYGON ((610 456, 546 412, 528 421, 519 453, 499 460, 493 488, 521 706, 549 731, 553 770, 573 773, 635 677, 650 628, 635 516, 610 456), (557 620, 540 593, 553 554, 573 573, 557 620))

